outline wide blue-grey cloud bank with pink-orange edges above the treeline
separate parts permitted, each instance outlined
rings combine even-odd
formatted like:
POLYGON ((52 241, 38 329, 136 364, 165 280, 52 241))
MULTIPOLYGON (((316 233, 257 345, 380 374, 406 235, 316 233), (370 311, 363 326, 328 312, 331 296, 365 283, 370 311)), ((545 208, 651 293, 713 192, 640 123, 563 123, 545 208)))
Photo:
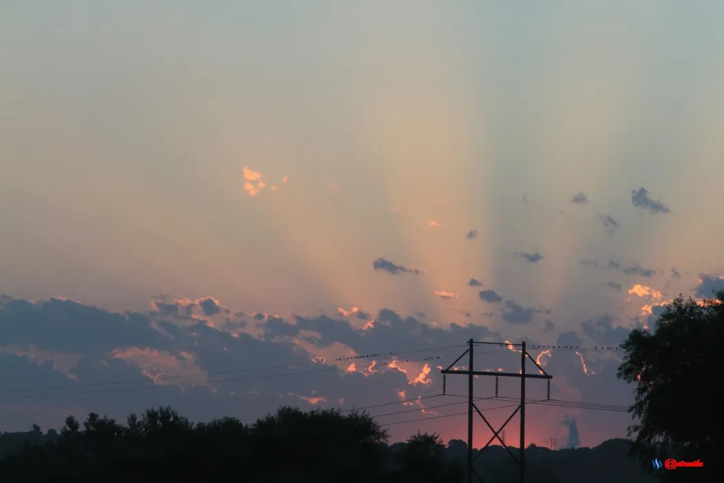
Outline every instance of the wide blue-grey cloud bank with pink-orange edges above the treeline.
MULTIPOLYGON (((460 356, 466 340, 505 340, 476 320, 485 316, 490 317, 485 322, 499 324, 500 311, 470 314, 466 320, 471 323, 433 326, 422 322, 421 313, 405 316, 382 308, 376 315, 366 314, 369 319, 361 324, 358 317, 362 311, 355 307, 333 311, 333 316, 279 316, 247 306, 243 311, 227 309, 231 315, 217 310, 224 304, 212 296, 167 296, 165 300, 169 309, 164 313, 156 309, 117 313, 60 299, 33 302, 0 298, 3 430, 25 429, 33 423, 59 427, 68 414, 82 418, 88 411, 122 419, 130 412, 167 404, 195 421, 235 414, 251 423, 280 404, 342 409, 390 405, 399 391, 418 402, 407 407, 400 402, 397 408, 385 406, 371 414, 414 408, 418 416, 380 416, 379 421, 387 424, 408 416, 415 419, 432 414, 432 408, 422 405, 425 400, 420 398, 442 392, 439 369, 460 356), (213 314, 203 314, 203 301, 211 307, 206 312, 213 314), (245 326, 241 319, 252 323, 245 326), (30 386, 67 390, 17 392, 30 386)), ((159 306, 162 303, 158 301, 159 306)), ((507 303, 508 318, 515 316, 515 311, 529 315, 545 312, 543 308, 516 306, 507 303)), ((555 337, 555 324, 550 320, 539 321, 536 328, 544 331, 542 335, 555 337)), ((576 338, 571 332, 558 340, 575 342, 576 338)), ((519 358, 505 346, 487 352, 479 359, 480 369, 518 370, 519 358)), ((616 389, 618 381, 611 375, 615 367, 601 364, 605 363, 596 358, 586 360, 590 374, 586 377, 578 356, 565 351, 553 353, 546 366, 555 374, 552 397, 626 403, 630 391, 625 386, 616 389), (604 375, 592 375, 594 372, 604 375), (564 384, 575 390, 561 392, 564 384), (612 387, 623 399, 612 400, 612 387)), ((450 388, 450 378, 447 382, 450 388)), ((571 409, 545 411, 552 411, 546 413, 547 418, 560 421, 563 411, 570 413, 571 409)), ((592 418, 589 421, 609 417, 599 413, 585 416, 592 418)), ((459 427, 446 421, 424 421, 424 425, 446 439, 457 436, 459 427)), ((608 429, 610 421, 606 421, 604 429, 612 431, 608 429)), ((622 421, 623 434, 627 421, 622 421)), ((397 441, 415 428, 400 425, 390 430, 392 440, 397 441)))

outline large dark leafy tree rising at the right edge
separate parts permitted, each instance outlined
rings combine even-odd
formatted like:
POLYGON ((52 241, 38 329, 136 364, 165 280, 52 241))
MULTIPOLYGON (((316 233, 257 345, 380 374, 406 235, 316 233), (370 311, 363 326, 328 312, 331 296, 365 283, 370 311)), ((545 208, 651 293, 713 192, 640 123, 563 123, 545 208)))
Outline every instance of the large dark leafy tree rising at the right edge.
POLYGON ((635 385, 629 411, 634 449, 652 457, 700 460, 703 468, 657 470, 667 481, 719 481, 724 457, 724 291, 695 301, 682 295, 654 327, 634 329, 621 345, 618 377, 635 385), (717 476, 714 480, 713 477, 717 476))

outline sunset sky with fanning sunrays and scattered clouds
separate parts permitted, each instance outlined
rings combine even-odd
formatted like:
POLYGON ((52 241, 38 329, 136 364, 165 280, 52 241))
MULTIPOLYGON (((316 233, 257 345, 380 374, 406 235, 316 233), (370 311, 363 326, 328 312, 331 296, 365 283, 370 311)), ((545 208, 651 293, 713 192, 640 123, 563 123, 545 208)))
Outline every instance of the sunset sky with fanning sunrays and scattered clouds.
MULTIPOLYGON (((551 397, 628 406, 622 353, 592 349, 724 288, 719 2, 3 10, 1 431, 391 403, 392 440, 465 440, 430 419, 462 399, 429 396, 471 337, 581 348, 540 356, 551 397)), ((530 406, 526 440, 627 424, 530 406)))

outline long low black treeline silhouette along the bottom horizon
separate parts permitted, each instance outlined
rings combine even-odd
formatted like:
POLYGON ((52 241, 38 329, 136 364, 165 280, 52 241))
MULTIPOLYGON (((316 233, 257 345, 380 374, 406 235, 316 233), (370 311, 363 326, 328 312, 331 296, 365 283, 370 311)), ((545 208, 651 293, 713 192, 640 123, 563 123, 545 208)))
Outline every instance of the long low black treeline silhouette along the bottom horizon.
MULTIPOLYGON (((558 451, 531 445, 526 481, 652 481, 630 448, 628 440, 558 451)), ((446 446, 437 434, 419 432, 387 445, 387 432, 366 413, 282 407, 254 424, 231 417, 193 423, 172 408, 154 408, 125 424, 90 413, 83 423, 68 417, 60 433, 34 426, 2 434, 0 480, 458 483, 466 452, 462 440, 446 446)), ((500 446, 488 448, 476 468, 486 481, 517 481, 517 466, 500 446)))

